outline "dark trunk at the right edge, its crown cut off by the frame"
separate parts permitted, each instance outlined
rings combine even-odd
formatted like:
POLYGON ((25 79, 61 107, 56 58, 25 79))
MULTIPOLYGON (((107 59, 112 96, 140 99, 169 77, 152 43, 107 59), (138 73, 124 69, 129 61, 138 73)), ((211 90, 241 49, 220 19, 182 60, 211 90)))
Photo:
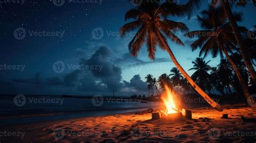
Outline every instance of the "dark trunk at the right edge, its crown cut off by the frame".
POLYGON ((248 47, 246 46, 244 40, 242 39, 241 33, 238 29, 238 25, 237 25, 237 22, 235 21, 235 18, 233 16, 232 11, 231 11, 230 5, 229 5, 228 2, 225 2, 225 0, 222 0, 221 3, 223 5, 223 8, 225 10, 225 13, 226 13, 229 21, 230 21, 230 25, 231 25, 231 27, 234 31, 234 36, 235 36, 235 39, 237 39, 237 43, 239 45, 242 58, 244 58, 245 65, 246 65, 254 83, 256 84, 256 73, 255 73, 255 70, 253 68, 252 61, 251 61, 251 59, 248 56, 248 53, 246 51, 246 49, 248 49, 248 47))

